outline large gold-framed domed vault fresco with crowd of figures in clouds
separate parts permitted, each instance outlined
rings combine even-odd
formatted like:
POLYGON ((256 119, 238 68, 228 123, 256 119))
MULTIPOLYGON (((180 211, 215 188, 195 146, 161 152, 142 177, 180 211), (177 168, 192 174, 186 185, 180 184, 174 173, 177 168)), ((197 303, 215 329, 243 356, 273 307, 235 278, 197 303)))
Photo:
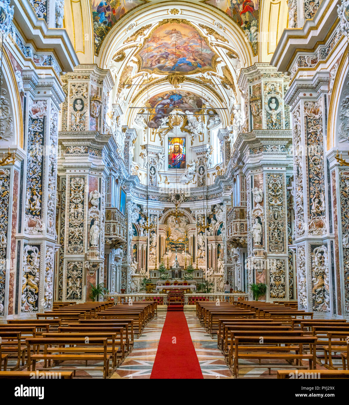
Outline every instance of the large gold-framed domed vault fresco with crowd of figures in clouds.
POLYGON ((159 26, 137 53, 141 69, 193 74, 214 70, 216 54, 195 28, 184 23, 159 26))

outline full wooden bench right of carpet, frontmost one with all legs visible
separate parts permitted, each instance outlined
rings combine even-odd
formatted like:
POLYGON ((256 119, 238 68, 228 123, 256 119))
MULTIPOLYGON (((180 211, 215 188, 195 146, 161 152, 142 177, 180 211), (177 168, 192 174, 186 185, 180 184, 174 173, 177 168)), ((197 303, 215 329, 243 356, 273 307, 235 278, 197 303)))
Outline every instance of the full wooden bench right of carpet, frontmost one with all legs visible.
MULTIPOLYGON (((290 331, 291 333, 294 331, 290 331)), ((256 336, 235 336, 235 351, 233 353, 234 360, 234 375, 235 378, 239 376, 239 359, 268 359, 268 360, 309 360, 309 369, 316 369, 316 341, 317 337, 311 336, 265 336, 263 337, 263 343, 260 343, 260 337, 256 336), (248 345, 260 345, 260 351, 263 351, 263 346, 266 345, 268 352, 273 352, 271 346, 275 346, 275 350, 280 344, 290 343, 293 346, 298 345, 298 354, 293 353, 248 353, 248 345), (311 354, 302 353, 302 345, 307 344, 311 347, 311 354)), ((272 364, 262 364, 262 365, 246 365, 242 366, 244 368, 254 368, 263 367, 268 368, 269 373, 271 368, 275 368, 272 364)), ((277 367, 280 367, 277 365, 277 367)), ((304 367, 296 365, 294 367, 304 367)))

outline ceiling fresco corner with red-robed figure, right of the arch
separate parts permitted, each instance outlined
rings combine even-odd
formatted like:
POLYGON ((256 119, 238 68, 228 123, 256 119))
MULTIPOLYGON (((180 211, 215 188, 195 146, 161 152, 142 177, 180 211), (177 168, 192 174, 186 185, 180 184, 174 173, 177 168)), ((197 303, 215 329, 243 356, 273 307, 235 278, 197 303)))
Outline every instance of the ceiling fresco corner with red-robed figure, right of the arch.
POLYGON ((257 54, 259 0, 204 0, 203 3, 231 17, 250 41, 254 55, 257 54))

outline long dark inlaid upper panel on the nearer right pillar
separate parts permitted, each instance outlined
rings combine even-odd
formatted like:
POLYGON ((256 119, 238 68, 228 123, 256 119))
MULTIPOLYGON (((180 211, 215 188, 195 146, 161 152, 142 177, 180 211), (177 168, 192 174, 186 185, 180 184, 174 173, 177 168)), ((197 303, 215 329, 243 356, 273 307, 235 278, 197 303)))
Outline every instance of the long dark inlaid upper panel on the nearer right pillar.
POLYGON ((304 110, 309 234, 323 235, 326 233, 326 201, 321 100, 305 102, 304 110))

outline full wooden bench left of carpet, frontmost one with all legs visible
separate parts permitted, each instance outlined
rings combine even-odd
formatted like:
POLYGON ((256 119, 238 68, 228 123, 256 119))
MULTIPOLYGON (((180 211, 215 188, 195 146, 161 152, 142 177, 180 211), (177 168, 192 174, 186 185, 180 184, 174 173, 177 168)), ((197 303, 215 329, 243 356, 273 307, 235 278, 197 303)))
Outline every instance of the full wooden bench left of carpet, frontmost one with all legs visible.
MULTIPOLYGON (((62 361, 69 361, 69 360, 83 360, 85 362, 89 360, 93 361, 103 361, 103 377, 107 378, 109 373, 109 361, 110 361, 110 354, 107 354, 107 338, 102 337, 91 337, 86 342, 85 337, 52 337, 52 338, 28 338, 26 339, 27 343, 27 371, 30 371, 30 367, 32 365, 32 371, 35 371, 36 361, 38 360, 53 360, 55 362, 62 362, 62 361), (43 345, 44 351, 43 353, 36 353, 37 348, 43 345), (47 349, 49 345, 59 345, 57 348, 59 352, 64 352, 65 349, 69 349, 71 347, 80 347, 81 352, 79 354, 53 354, 48 353, 47 349), (62 347, 62 345, 70 345, 71 347, 62 347), (91 345, 91 346, 90 346, 91 345), (103 354, 87 354, 84 352, 84 348, 87 347, 100 347, 100 352, 103 354), (33 354, 32 354, 33 353, 33 354)), ((51 348, 51 347, 50 347, 51 348)), ((67 369, 67 368, 66 368, 67 369)), ((75 367, 68 368, 73 369, 75 375, 75 367)), ((93 369, 96 369, 94 367, 93 369)))

